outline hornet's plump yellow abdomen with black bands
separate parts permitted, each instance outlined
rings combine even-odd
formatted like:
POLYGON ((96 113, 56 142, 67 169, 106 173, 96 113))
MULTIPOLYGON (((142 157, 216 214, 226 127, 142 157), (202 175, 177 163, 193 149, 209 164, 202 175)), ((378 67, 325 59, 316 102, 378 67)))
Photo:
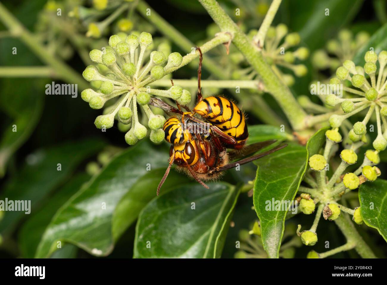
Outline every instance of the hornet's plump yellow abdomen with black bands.
POLYGON ((245 115, 234 102, 220 96, 211 96, 200 101, 193 111, 235 138, 236 144, 227 143, 228 147, 243 147, 248 138, 247 124, 245 115))

